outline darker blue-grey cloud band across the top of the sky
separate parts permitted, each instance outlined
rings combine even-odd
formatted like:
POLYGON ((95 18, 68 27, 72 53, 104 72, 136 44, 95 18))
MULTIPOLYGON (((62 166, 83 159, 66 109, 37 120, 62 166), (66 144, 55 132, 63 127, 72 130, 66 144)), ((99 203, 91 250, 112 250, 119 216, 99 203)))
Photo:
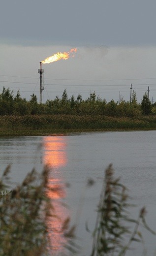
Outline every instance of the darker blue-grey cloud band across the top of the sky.
POLYGON ((155 45, 155 11, 155 0, 5 0, 0 37, 23 45, 155 45))

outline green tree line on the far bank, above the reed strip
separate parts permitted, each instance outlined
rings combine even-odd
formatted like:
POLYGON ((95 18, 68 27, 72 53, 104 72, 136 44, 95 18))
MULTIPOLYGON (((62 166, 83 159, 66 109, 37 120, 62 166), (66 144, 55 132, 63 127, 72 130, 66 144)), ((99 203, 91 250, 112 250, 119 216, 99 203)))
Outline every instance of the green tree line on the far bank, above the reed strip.
POLYGON ((140 103, 137 102, 136 92, 133 90, 131 102, 120 97, 119 101, 112 99, 106 102, 95 92, 90 93, 87 99, 79 94, 68 97, 66 89, 62 96, 54 100, 48 99, 45 103, 38 103, 37 96, 32 94, 30 100, 22 98, 20 91, 14 96, 13 91, 3 87, 0 94, 0 115, 40 115, 40 114, 70 114, 70 115, 104 115, 112 117, 137 117, 140 115, 155 115, 156 102, 152 104, 145 93, 140 103))

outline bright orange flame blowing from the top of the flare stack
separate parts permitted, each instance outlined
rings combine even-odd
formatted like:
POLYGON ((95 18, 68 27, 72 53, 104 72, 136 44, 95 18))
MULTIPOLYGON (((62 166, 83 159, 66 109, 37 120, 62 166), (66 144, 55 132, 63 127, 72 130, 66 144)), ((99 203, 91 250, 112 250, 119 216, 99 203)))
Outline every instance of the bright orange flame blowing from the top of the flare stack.
POLYGON ((49 63, 52 63, 52 62, 57 62, 59 60, 67 60, 68 58, 70 57, 74 57, 74 54, 73 52, 77 52, 77 48, 73 48, 71 49, 69 52, 58 52, 58 53, 55 53, 54 55, 46 58, 44 61, 42 61, 41 63, 43 64, 49 64, 49 63))

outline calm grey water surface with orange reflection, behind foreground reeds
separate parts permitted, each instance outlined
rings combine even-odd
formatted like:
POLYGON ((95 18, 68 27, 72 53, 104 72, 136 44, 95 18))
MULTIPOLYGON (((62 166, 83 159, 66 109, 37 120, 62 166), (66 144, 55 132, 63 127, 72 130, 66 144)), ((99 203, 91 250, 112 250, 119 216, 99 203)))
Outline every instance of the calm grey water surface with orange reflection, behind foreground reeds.
MULTIPOLYGON (((21 182, 35 167, 44 164, 51 167, 49 184, 62 188, 60 194, 50 194, 62 219, 71 216, 77 224, 77 243, 82 247, 80 256, 91 253, 91 234, 94 229, 96 206, 102 185, 104 169, 113 163, 115 176, 129 189, 136 204, 131 216, 137 218, 138 210, 147 207, 147 223, 156 231, 156 131, 82 133, 68 136, 38 136, 0 138, 0 173, 11 164, 14 183, 21 182), (87 180, 93 178, 95 185, 87 188, 87 180), (64 184, 70 184, 65 188, 64 184), (58 201, 62 199, 69 208, 64 210, 58 201)), ((60 223, 49 223, 60 228, 60 223)), ((156 255, 156 237, 142 230, 147 256, 156 255)), ((56 253, 61 255, 61 234, 52 238, 56 253)), ((62 241, 65 242, 65 241, 62 241)), ((141 256, 142 247, 133 244, 135 251, 127 256, 141 256)))

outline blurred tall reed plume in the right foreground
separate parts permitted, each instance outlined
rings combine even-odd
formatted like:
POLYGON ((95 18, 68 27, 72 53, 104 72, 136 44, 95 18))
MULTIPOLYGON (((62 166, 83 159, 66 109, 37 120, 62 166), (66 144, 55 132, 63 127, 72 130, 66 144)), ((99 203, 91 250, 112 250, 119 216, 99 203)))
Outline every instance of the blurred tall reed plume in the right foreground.
POLYGON ((126 188, 120 183, 120 179, 114 178, 113 174, 110 164, 105 171, 98 204, 91 256, 125 256, 133 241, 143 242, 142 234, 139 231, 140 223, 155 234, 146 224, 145 207, 140 210, 138 220, 129 219, 126 188), (128 223, 135 224, 133 231, 128 228, 128 223), (126 234, 128 234, 129 240, 125 243, 126 234))

